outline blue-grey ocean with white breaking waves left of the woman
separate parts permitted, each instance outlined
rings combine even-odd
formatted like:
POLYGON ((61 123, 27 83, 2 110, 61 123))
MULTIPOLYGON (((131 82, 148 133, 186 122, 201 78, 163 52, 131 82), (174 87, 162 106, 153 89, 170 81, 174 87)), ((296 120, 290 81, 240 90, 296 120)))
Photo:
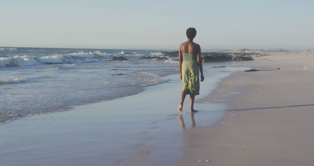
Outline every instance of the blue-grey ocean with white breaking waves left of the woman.
POLYGON ((113 100, 167 82, 177 61, 160 51, 0 48, 0 124, 33 114, 113 100), (114 56, 129 60, 110 61, 114 56))

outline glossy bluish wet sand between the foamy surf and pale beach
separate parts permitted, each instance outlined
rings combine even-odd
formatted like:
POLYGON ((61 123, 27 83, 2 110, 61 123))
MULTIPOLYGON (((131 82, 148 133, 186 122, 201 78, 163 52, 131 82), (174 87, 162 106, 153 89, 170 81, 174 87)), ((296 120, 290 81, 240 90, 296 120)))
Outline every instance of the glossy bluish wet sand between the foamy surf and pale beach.
MULTIPOLYGON (((206 80, 201 83, 201 95, 197 98, 208 95, 221 79, 232 73, 210 68, 213 65, 204 65, 206 80)), ((180 117, 179 76, 163 78, 170 81, 145 87, 145 91, 136 95, 0 125, 1 164, 172 165, 182 153, 182 131, 214 124, 224 115, 226 106, 197 103, 195 109, 199 112, 191 116, 187 113, 186 99, 180 117)))

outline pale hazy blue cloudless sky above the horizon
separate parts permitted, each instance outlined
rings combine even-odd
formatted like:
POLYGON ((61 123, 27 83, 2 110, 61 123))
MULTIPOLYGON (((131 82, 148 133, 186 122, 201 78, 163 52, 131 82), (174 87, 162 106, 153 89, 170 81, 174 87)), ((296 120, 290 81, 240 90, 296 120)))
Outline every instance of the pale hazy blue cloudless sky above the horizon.
POLYGON ((0 0, 0 47, 314 50, 314 0, 0 0))

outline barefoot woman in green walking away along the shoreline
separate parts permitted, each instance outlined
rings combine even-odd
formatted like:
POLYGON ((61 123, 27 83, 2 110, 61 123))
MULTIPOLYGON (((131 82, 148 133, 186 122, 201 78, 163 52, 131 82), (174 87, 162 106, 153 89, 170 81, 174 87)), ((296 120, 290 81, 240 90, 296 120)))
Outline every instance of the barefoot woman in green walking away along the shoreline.
POLYGON ((194 110, 194 99, 195 95, 200 94, 199 72, 201 72, 201 82, 204 81, 201 47, 193 42, 196 36, 195 28, 187 28, 186 36, 187 41, 182 43, 179 48, 179 73, 183 88, 178 111, 182 112, 185 96, 189 94, 190 112, 196 112, 194 110))

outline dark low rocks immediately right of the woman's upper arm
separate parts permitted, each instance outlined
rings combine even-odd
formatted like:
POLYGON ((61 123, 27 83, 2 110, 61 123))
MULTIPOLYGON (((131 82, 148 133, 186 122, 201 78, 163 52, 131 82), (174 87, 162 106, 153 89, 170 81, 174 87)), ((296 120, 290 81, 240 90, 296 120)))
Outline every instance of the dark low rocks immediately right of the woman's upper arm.
POLYGON ((203 53, 204 62, 225 62, 231 61, 232 56, 229 53, 203 53))

